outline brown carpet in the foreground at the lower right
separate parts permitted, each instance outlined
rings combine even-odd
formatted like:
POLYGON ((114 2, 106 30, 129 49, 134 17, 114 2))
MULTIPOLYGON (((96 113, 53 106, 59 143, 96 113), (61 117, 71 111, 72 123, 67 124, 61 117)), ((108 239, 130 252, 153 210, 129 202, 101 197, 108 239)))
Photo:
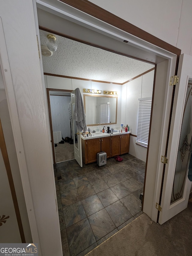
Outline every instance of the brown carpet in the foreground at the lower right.
POLYGON ((192 255, 192 202, 163 225, 142 214, 87 255, 192 255))

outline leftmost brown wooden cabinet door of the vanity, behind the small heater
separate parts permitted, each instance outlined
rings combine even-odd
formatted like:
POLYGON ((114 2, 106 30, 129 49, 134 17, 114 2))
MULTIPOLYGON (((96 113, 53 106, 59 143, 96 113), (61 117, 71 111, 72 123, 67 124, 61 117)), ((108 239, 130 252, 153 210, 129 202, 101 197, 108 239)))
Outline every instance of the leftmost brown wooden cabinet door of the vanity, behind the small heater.
POLYGON ((87 163, 97 161, 97 153, 101 152, 101 138, 87 139, 87 163))

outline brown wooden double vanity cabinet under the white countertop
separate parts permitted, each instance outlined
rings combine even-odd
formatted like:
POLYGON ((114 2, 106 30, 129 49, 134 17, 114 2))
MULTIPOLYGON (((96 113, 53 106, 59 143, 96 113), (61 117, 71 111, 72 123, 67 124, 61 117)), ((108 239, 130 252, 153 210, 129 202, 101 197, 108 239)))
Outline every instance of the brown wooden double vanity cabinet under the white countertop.
POLYGON ((107 153, 107 158, 128 153, 130 133, 104 133, 91 137, 81 136, 83 163, 97 162, 97 153, 101 151, 107 153))

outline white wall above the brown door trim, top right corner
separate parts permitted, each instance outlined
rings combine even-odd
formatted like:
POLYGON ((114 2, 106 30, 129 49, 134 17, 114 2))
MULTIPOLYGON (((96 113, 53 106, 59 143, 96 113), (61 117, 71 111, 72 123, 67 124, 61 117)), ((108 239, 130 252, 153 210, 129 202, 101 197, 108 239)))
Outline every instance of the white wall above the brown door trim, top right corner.
POLYGON ((171 45, 192 55, 192 1, 89 0, 171 45))

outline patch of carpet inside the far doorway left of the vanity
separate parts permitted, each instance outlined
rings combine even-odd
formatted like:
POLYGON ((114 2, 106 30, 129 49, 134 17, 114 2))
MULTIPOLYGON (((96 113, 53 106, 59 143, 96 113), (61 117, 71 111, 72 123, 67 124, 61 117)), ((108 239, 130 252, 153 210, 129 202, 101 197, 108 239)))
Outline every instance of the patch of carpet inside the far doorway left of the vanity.
POLYGON ((64 144, 57 143, 57 147, 55 147, 55 158, 56 163, 74 159, 73 144, 66 142, 64 144))

